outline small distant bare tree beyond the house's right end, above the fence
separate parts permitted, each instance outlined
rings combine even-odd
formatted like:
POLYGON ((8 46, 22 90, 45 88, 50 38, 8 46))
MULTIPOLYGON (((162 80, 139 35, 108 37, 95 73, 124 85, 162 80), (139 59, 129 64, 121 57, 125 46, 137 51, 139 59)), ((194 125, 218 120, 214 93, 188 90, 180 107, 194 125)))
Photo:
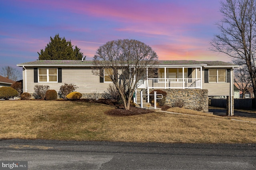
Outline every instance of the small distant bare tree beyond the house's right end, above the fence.
POLYGON ((234 70, 234 81, 239 90, 242 91, 242 98, 244 98, 247 88, 252 85, 252 79, 246 66, 243 65, 234 70))

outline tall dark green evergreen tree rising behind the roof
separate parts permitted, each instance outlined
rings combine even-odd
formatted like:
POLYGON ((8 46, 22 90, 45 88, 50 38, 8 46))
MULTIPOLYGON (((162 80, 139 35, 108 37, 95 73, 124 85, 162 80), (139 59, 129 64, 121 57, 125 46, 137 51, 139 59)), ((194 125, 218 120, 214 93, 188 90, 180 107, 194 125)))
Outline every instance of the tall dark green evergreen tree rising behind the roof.
POLYGON ((38 53, 39 60, 81 60, 83 53, 80 48, 75 47, 71 41, 66 41, 65 37, 61 38, 56 34, 54 38, 50 37, 50 42, 46 45, 45 49, 41 49, 38 53))

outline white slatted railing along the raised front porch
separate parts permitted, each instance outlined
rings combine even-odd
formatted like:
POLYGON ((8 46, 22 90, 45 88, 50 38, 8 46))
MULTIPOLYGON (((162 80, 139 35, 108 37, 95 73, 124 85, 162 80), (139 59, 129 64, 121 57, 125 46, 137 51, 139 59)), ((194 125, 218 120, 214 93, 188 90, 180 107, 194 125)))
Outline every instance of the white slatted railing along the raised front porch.
POLYGON ((201 88, 200 78, 148 78, 148 88, 201 88), (165 81, 166 80, 166 81, 165 81), (184 81, 183 81, 184 80, 184 81))

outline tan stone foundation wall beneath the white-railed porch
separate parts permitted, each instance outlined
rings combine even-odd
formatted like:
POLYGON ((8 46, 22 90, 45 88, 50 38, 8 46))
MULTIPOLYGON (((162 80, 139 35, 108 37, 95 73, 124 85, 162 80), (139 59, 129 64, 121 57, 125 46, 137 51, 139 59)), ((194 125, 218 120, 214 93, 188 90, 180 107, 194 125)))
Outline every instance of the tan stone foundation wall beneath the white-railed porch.
MULTIPOLYGON (((166 105, 174 106, 180 100, 184 108, 208 112, 208 90, 205 89, 161 89, 167 93, 166 105)), ((154 90, 152 90, 154 91, 154 90)))

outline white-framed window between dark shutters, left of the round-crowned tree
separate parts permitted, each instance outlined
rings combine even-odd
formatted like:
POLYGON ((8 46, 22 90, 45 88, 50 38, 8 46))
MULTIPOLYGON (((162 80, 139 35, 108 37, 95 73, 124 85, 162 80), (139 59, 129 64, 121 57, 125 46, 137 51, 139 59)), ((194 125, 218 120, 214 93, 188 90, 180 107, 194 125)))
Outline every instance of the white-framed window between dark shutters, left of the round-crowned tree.
POLYGON ((38 82, 58 82, 57 68, 38 68, 38 82))

